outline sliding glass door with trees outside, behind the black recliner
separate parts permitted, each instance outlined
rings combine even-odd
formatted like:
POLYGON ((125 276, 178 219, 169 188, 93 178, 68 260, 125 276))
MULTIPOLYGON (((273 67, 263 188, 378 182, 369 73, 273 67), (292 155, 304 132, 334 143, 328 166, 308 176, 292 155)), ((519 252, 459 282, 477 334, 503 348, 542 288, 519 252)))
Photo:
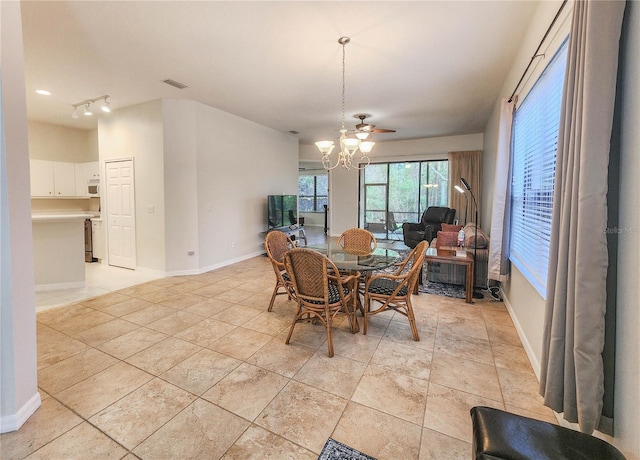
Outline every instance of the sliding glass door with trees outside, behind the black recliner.
POLYGON ((402 223, 428 206, 447 206, 447 160, 376 163, 360 172, 359 226, 379 239, 402 239, 402 223))

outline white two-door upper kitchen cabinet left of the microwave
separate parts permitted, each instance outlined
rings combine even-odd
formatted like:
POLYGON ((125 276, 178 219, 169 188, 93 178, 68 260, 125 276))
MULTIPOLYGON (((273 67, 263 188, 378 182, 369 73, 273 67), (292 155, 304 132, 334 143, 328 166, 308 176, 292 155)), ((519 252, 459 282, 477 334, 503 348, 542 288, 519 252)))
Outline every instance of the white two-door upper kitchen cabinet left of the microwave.
POLYGON ((31 160, 31 196, 76 196, 75 164, 65 161, 31 160))

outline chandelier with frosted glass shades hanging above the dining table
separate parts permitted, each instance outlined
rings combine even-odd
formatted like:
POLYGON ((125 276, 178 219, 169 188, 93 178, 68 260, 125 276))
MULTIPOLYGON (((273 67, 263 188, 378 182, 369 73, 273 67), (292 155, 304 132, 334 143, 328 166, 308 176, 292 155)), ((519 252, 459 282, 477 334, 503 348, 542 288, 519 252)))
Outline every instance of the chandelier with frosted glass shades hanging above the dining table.
MULTIPOLYGON (((358 137, 347 137, 347 130, 344 127, 344 100, 345 100, 345 84, 344 84, 344 68, 345 68, 345 45, 349 43, 351 39, 349 37, 340 37, 338 39, 338 43, 342 45, 342 128, 340 129, 340 151, 338 152, 338 158, 335 164, 332 164, 331 161, 331 152, 333 151, 335 145, 333 141, 318 141, 316 142, 316 147, 320 150, 322 154, 322 166, 327 171, 337 168, 342 165, 343 168, 349 170, 351 168, 354 169, 364 169, 369 163, 368 154, 373 149, 375 142, 364 141, 359 139, 358 137), (363 163, 362 166, 357 166, 357 164, 353 161, 353 157, 355 153, 360 150, 361 157, 360 163, 363 163)), ((366 138, 366 136, 365 136, 366 138)))

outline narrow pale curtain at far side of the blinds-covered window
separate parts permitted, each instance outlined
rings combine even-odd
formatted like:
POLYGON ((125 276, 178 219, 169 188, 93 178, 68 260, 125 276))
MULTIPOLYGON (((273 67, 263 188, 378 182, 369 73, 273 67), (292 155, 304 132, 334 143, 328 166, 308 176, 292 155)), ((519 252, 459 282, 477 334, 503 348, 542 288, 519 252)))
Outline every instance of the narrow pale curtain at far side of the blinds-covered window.
POLYGON ((491 245, 489 246, 490 280, 506 281, 509 273, 509 181, 511 178, 511 123, 517 99, 502 100, 498 126, 496 173, 494 175, 491 245))

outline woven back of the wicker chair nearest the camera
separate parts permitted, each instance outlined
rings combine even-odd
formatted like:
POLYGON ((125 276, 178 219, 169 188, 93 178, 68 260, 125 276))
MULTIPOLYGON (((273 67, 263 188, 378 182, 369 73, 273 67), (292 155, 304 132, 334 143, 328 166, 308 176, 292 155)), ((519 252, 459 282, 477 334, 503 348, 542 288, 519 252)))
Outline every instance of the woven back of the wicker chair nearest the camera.
POLYGON ((311 249, 293 249, 284 256, 284 264, 298 298, 326 302, 329 298, 328 267, 338 270, 326 256, 311 249))

